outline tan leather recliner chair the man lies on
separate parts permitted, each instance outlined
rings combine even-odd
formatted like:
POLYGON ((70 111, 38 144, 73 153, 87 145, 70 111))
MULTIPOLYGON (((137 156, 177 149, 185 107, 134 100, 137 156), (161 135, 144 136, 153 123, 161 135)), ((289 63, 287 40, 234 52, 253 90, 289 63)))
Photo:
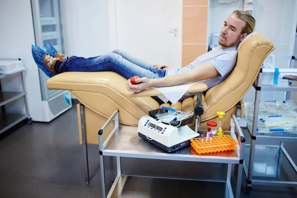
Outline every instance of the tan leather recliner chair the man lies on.
MULTIPOLYGON (((252 86, 263 61, 273 50, 272 42, 261 34, 252 35, 241 44, 238 49, 237 64, 232 73, 202 96, 204 113, 201 116, 200 129, 205 129, 206 122, 209 120, 218 121, 216 112, 224 111, 226 114, 223 119, 223 130, 230 130, 230 119, 232 114, 237 112, 237 103, 252 86)), ((70 90, 81 104, 84 104, 86 142, 98 144, 99 129, 116 109, 119 109, 121 125, 137 126, 139 119, 148 115, 148 111, 160 107, 159 103, 151 97, 129 97, 125 86, 126 81, 127 79, 114 72, 65 72, 50 78, 47 88, 70 90)), ((201 85, 198 84, 193 87, 193 90, 197 92, 199 87, 201 85)), ((153 89, 146 91, 147 96, 155 96, 154 93, 156 92, 153 89)), ((194 110, 196 101, 197 96, 184 99, 175 105, 162 105, 188 112, 194 110)), ((243 117, 243 111, 242 107, 241 117, 243 117)), ((79 104, 78 118, 82 144, 79 104)), ((107 131, 111 131, 113 127, 114 125, 110 125, 107 131)), ((195 128, 195 124, 193 123, 190 127, 195 128)))

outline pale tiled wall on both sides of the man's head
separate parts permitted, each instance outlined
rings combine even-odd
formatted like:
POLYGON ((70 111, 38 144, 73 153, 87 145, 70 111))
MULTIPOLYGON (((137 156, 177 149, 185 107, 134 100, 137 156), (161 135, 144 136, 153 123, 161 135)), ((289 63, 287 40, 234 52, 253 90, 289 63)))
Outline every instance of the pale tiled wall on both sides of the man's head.
MULTIPOLYGON (((256 20, 255 31, 269 38, 275 46, 274 55, 293 55, 296 31, 296 0, 253 0, 253 17, 256 20)), ((244 0, 230 4, 220 4, 218 0, 210 0, 209 32, 219 34, 224 20, 233 10, 244 10, 244 0)), ((276 67, 288 68, 289 60, 276 60, 276 67)), ((253 101, 255 91, 251 88, 244 101, 253 101)), ((261 92, 261 100, 285 99, 285 92, 261 92)))

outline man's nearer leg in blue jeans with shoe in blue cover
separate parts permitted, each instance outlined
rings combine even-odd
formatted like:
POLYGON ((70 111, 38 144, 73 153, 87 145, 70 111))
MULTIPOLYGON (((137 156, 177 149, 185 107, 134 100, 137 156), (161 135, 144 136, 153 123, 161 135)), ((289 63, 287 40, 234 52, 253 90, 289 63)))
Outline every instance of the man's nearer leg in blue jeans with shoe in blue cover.
MULTIPOLYGON (((32 45, 32 55, 38 67, 42 69, 49 78, 65 71, 114 71, 127 79, 135 75, 148 78, 161 78, 165 76, 165 70, 146 70, 115 53, 108 53, 88 59, 72 56, 62 62, 59 61, 59 58, 52 57, 43 49, 32 45)), ((158 99, 156 100, 158 101, 158 99)), ((162 101, 158 102, 160 104, 163 103, 162 101)))

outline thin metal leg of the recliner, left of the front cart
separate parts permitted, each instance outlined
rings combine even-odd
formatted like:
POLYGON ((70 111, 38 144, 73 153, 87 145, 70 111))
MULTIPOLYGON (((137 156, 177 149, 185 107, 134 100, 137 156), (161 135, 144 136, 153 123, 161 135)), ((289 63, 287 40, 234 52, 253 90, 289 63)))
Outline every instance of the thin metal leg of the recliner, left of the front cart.
POLYGON ((80 104, 80 115, 81 115, 81 129, 82 129, 83 152, 84 152, 85 181, 88 184, 90 182, 90 176, 89 176, 89 160, 88 160, 88 146, 87 146, 87 134, 86 134, 85 106, 83 104, 80 104))

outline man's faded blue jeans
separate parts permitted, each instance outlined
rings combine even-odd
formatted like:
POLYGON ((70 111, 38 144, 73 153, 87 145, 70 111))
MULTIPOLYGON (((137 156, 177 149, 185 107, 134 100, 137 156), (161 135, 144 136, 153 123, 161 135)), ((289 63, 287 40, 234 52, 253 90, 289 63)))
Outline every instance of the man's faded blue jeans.
POLYGON ((91 58, 71 56, 69 59, 63 61, 58 68, 58 72, 60 73, 67 71, 113 71, 126 79, 133 76, 153 79, 164 77, 166 70, 154 69, 152 64, 132 57, 126 52, 114 50, 104 55, 91 58))

